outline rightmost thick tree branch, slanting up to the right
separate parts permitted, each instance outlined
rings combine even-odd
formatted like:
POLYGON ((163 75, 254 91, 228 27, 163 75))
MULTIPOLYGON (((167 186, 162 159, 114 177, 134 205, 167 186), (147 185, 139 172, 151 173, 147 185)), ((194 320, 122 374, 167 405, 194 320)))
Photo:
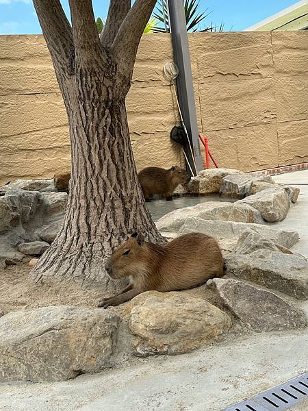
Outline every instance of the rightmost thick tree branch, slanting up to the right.
POLYGON ((127 73, 129 79, 133 74, 133 65, 135 64, 140 38, 156 1, 136 0, 114 39, 112 50, 116 55, 119 66, 123 66, 123 70, 127 73))

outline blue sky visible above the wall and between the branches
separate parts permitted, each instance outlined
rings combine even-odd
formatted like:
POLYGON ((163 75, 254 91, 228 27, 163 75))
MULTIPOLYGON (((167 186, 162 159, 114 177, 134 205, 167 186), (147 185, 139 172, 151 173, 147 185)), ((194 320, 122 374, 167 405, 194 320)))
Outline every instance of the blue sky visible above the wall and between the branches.
MULTIPOLYGON (((201 9, 211 11, 205 25, 224 23, 224 30, 245 29, 296 3, 294 0, 200 0, 201 9)), ((68 12, 68 1, 63 0, 68 12)), ((93 0, 95 16, 107 15, 107 0, 93 0)), ((204 28, 201 26, 201 28, 204 28)), ((0 34, 40 34, 31 0, 0 0, 0 34)))

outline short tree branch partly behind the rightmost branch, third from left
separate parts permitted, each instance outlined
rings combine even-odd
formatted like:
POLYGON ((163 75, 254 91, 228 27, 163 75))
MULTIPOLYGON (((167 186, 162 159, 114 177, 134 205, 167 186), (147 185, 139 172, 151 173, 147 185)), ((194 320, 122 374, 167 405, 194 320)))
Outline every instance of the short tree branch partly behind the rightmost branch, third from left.
POLYGON ((110 47, 112 45, 130 8, 131 0, 110 0, 107 20, 100 36, 103 46, 110 47))

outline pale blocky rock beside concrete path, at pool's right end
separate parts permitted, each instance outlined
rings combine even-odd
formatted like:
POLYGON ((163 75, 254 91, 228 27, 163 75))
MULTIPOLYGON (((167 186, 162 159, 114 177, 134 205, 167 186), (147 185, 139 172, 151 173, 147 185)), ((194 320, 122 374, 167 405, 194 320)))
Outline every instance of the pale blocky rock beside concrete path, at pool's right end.
POLYGON ((282 221, 287 216, 290 201, 283 188, 266 188, 250 195, 245 199, 236 201, 237 204, 248 204, 261 213, 265 221, 282 221))

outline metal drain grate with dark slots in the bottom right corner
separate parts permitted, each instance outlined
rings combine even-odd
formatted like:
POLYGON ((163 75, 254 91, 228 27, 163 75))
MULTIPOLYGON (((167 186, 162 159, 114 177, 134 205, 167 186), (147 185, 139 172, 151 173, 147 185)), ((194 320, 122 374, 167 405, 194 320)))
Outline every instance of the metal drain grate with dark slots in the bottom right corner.
POLYGON ((255 395, 224 411, 282 411, 308 399, 308 373, 255 395))

